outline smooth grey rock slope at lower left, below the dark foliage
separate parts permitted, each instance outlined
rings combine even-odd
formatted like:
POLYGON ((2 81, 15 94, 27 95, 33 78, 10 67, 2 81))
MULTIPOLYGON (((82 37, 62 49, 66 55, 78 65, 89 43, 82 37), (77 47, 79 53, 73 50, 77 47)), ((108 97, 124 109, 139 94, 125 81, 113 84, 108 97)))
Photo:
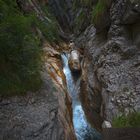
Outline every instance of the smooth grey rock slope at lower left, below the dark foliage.
MULTIPOLYGON (((45 78, 50 79, 45 74, 45 78)), ((46 81, 46 80, 45 80, 46 81)), ((1 140, 63 140, 64 129, 59 118, 59 104, 49 81, 40 92, 26 96, 0 98, 1 140)))

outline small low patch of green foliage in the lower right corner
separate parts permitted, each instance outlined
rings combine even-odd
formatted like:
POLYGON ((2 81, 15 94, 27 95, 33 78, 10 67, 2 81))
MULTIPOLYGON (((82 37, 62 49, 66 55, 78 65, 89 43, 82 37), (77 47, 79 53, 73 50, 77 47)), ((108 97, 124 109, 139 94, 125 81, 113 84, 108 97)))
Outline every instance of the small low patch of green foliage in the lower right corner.
POLYGON ((113 127, 140 127, 140 112, 116 117, 113 119, 112 125, 113 127))

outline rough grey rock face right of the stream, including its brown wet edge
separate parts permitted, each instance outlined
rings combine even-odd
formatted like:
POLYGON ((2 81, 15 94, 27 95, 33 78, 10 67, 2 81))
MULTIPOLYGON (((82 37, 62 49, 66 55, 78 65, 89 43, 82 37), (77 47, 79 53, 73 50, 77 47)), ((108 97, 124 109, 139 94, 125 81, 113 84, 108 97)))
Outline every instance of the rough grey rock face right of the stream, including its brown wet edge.
POLYGON ((103 120, 140 111, 140 2, 114 1, 110 20, 109 30, 90 26, 76 40, 85 47, 81 101, 97 129, 103 120))

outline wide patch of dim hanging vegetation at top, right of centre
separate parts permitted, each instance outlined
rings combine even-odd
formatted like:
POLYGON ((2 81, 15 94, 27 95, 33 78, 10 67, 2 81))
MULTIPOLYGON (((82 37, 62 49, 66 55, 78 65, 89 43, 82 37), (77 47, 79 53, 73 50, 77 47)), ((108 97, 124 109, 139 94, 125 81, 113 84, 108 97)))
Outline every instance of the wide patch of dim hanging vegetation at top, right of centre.
POLYGON ((100 26, 104 17, 110 9, 112 0, 75 0, 73 10, 78 13, 75 19, 76 30, 88 26, 93 23, 95 26, 100 26), (86 22, 85 22, 86 21, 86 22))

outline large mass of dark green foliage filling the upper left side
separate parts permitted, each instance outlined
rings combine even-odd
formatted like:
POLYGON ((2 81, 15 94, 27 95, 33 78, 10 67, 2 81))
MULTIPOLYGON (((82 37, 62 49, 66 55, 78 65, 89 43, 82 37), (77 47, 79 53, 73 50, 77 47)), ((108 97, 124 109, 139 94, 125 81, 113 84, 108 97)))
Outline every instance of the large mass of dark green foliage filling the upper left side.
POLYGON ((0 0, 0 94, 11 95, 41 86, 41 48, 33 33, 34 16, 20 13, 15 0, 0 0))

